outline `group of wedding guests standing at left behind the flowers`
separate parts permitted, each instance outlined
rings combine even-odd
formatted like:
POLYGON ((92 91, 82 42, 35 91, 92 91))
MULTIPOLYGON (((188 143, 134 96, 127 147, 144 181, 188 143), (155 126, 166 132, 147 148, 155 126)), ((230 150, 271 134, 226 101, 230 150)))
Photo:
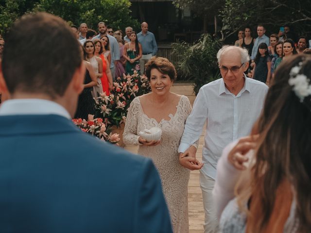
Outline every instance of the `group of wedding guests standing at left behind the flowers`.
POLYGON ((81 23, 79 28, 72 25, 71 31, 82 45, 86 64, 91 65, 96 76, 95 82, 87 70, 85 90, 79 98, 75 115, 75 118, 87 119, 87 114, 94 113, 96 98, 100 93, 109 95, 116 78, 133 75, 134 72, 144 73, 145 63, 155 55, 157 45, 155 35, 148 31, 146 22, 141 24, 140 33, 126 27, 124 36, 121 30, 113 32, 104 22, 98 23, 98 33, 89 29, 86 23, 81 23), (89 98, 90 95, 93 98, 89 98))

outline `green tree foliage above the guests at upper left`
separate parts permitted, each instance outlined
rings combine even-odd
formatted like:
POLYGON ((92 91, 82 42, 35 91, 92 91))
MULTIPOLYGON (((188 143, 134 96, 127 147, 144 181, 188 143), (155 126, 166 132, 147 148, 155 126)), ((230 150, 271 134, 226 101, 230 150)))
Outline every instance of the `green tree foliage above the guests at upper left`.
POLYGON ((139 28, 138 21, 130 16, 130 5, 129 0, 0 0, 0 31, 5 34, 18 17, 37 11, 49 12, 76 26, 85 22, 94 30, 100 21, 114 30, 139 28))

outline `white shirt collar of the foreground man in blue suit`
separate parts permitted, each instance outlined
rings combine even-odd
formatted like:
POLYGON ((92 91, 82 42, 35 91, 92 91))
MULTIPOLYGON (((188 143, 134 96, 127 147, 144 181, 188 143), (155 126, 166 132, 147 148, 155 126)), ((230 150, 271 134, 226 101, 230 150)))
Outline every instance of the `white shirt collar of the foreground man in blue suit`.
POLYGON ((42 99, 6 100, 1 104, 0 116, 8 115, 59 115, 71 119, 68 111, 60 104, 42 99))

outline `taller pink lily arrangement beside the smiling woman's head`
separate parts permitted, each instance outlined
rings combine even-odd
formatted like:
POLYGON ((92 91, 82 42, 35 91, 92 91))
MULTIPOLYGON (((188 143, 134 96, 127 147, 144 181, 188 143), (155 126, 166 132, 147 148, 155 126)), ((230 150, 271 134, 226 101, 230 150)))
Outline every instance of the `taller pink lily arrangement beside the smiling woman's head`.
POLYGON ((97 115, 104 117, 104 123, 109 128, 113 125, 120 126, 125 122, 127 109, 135 97, 150 92, 150 84, 145 75, 134 74, 118 77, 113 83, 110 95, 102 93, 96 100, 97 115))

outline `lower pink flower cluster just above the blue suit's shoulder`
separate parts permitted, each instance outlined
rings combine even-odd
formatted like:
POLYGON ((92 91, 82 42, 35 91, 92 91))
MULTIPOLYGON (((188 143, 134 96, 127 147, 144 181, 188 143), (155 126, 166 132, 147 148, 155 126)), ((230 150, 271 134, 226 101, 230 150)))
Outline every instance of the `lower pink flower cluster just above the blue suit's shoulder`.
POLYGON ((106 125, 102 118, 94 118, 94 115, 88 115, 88 119, 72 119, 73 123, 78 126, 83 132, 90 133, 97 136, 103 141, 110 143, 117 143, 120 141, 119 134, 117 133, 106 133, 106 125))

